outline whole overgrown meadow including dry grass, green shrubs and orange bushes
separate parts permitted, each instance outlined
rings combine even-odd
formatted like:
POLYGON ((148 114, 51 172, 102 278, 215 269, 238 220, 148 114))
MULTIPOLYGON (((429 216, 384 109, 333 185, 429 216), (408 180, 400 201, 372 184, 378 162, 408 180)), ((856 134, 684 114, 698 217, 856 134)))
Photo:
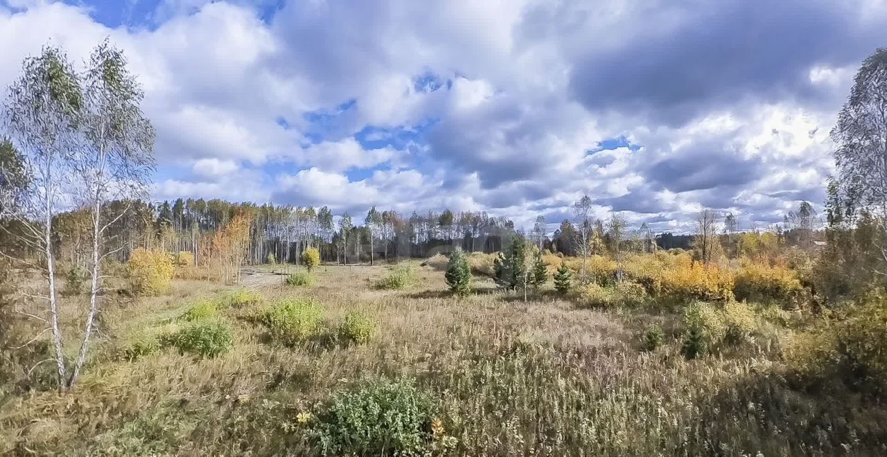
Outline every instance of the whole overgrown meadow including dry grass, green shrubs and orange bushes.
MULTIPOLYGON (((600 281, 567 296, 549 281, 524 302, 474 261, 466 297, 439 261, 109 292, 64 395, 45 345, 9 344, 41 328, 9 317, 0 454, 887 453, 880 391, 822 372, 816 337, 832 334, 786 304, 794 276, 651 255, 625 265, 626 286, 593 259, 600 281)), ((87 306, 65 303, 68 318, 87 306)))

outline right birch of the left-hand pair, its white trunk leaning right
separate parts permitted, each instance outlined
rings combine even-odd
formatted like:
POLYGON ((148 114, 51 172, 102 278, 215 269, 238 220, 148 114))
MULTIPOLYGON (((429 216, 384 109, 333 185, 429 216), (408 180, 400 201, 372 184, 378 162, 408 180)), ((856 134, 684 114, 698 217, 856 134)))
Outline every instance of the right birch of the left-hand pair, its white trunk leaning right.
POLYGON ((102 260, 116 252, 104 249, 106 230, 129 209, 124 207, 103 221, 102 208, 111 199, 146 198, 153 172, 154 130, 139 107, 144 97, 142 89, 126 64, 122 51, 105 40, 92 51, 83 77, 85 147, 75 154, 74 168, 84 186, 84 206, 91 215, 90 309, 68 386, 74 385, 86 361, 95 317, 101 307, 102 260))

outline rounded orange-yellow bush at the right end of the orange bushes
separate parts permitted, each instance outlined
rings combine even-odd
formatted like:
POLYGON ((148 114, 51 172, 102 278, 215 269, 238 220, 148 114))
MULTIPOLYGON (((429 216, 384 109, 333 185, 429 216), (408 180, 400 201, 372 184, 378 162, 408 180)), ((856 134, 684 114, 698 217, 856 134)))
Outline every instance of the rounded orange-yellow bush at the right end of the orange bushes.
POLYGON ((736 299, 772 299, 795 301, 802 290, 797 273, 787 267, 770 267, 744 262, 736 271, 734 295, 736 299))

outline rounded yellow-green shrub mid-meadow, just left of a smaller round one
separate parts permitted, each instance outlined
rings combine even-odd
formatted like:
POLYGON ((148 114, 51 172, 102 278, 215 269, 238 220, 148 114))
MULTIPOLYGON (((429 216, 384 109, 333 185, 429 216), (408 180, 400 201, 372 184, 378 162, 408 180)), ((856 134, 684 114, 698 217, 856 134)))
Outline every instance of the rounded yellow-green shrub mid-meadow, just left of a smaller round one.
POLYGON ((318 334, 323 313, 315 301, 287 299, 266 309, 260 320, 268 326, 272 337, 294 345, 318 334))

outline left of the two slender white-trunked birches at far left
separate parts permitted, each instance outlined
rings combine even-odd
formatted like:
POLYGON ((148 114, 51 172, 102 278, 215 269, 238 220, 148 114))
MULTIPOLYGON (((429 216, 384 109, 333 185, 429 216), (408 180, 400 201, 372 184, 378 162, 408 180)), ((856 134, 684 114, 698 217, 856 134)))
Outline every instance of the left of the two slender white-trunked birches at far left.
MULTIPOLYGON (((45 290, 34 298, 46 303, 43 314, 49 315, 32 317, 45 322, 51 332, 59 391, 67 389, 67 361, 59 329, 52 221, 63 203, 82 106, 81 83, 74 68, 64 52, 51 46, 44 47, 40 56, 25 59, 4 106, 4 127, 20 151, 20 175, 27 180, 21 186, 4 186, 0 207, 4 219, 19 222, 20 231, 10 235, 38 253, 39 261, 30 266, 43 273, 45 290)), ((14 179, 8 166, 0 174, 4 181, 14 179)))

